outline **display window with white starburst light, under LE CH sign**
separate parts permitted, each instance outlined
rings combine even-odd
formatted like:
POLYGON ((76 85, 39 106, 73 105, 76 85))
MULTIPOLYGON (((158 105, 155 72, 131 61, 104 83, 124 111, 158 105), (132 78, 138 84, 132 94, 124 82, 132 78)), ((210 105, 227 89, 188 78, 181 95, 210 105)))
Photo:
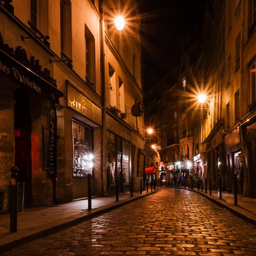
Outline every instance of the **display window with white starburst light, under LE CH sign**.
POLYGON ((73 120, 73 176, 84 177, 93 171, 92 129, 73 120))

